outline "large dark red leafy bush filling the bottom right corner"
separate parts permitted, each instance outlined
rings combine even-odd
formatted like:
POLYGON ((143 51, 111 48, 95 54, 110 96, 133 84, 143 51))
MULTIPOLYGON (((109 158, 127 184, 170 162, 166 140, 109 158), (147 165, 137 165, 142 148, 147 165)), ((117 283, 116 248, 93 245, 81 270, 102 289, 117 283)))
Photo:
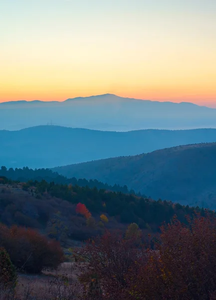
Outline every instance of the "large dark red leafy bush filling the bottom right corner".
POLYGON ((161 227, 156 249, 149 253, 148 260, 138 261, 128 274, 125 299, 215 299, 215 214, 188 218, 188 225, 174 217, 161 227))

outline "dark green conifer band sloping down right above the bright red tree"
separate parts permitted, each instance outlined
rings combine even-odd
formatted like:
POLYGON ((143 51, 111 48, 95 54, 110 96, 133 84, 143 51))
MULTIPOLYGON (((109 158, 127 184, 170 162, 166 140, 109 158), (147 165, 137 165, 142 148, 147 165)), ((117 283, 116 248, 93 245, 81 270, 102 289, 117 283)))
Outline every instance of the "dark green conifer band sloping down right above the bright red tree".
POLYGON ((120 223, 137 223, 141 228, 157 231, 162 222, 169 222, 176 214, 181 221, 186 221, 186 215, 193 215, 195 211, 204 214, 204 209, 189 207, 172 203, 171 201, 158 201, 138 197, 132 194, 107 192, 105 189, 90 188, 72 184, 59 184, 54 181, 29 180, 23 184, 23 189, 33 191, 37 198, 44 194, 61 198, 72 204, 79 202, 85 204, 92 215, 106 213, 120 223))

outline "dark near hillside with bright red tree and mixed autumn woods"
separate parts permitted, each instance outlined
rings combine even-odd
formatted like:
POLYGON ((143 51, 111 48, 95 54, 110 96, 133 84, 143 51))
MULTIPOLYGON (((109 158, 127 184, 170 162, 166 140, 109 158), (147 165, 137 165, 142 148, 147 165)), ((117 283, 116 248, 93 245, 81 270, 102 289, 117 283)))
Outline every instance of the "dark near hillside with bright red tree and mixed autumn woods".
POLYGON ((45 180, 18 183, 0 177, 0 222, 45 230, 62 242, 86 239, 104 228, 126 228, 132 222, 157 232, 162 222, 169 222, 175 214, 186 222, 186 214, 195 211, 204 214, 199 207, 160 199, 45 180))

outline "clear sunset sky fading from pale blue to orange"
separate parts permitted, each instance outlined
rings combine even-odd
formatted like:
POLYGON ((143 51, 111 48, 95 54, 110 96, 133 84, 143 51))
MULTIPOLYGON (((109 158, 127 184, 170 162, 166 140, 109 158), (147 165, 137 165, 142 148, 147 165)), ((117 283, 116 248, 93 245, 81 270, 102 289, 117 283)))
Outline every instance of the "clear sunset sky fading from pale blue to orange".
POLYGON ((216 107, 216 0, 0 0, 0 102, 103 93, 216 107))

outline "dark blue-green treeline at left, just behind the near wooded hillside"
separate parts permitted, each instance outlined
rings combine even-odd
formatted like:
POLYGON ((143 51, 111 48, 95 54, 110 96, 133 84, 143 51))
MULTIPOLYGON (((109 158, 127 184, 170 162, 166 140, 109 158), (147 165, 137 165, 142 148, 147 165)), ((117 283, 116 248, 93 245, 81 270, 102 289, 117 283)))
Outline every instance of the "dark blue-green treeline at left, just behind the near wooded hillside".
MULTIPOLYGON (((121 191, 123 193, 130 193, 136 194, 141 196, 141 193, 135 193, 133 189, 129 190, 127 185, 120 186, 119 184, 109 185, 107 183, 103 183, 96 179, 86 180, 86 179, 77 179, 75 177, 67 178, 63 175, 58 174, 57 172, 53 172, 51 169, 48 168, 39 168, 39 169, 31 169, 27 166, 23 168, 15 168, 13 169, 10 167, 7 169, 5 166, 1 166, 0 168, 0 175, 5 176, 12 180, 17 180, 20 182, 26 182, 28 180, 46 180, 47 182, 55 182, 60 184, 72 184, 72 185, 79 185, 79 186, 88 186, 90 188, 96 187, 98 189, 106 189, 112 191, 121 191)), ((146 197, 145 195, 143 195, 146 197)))

